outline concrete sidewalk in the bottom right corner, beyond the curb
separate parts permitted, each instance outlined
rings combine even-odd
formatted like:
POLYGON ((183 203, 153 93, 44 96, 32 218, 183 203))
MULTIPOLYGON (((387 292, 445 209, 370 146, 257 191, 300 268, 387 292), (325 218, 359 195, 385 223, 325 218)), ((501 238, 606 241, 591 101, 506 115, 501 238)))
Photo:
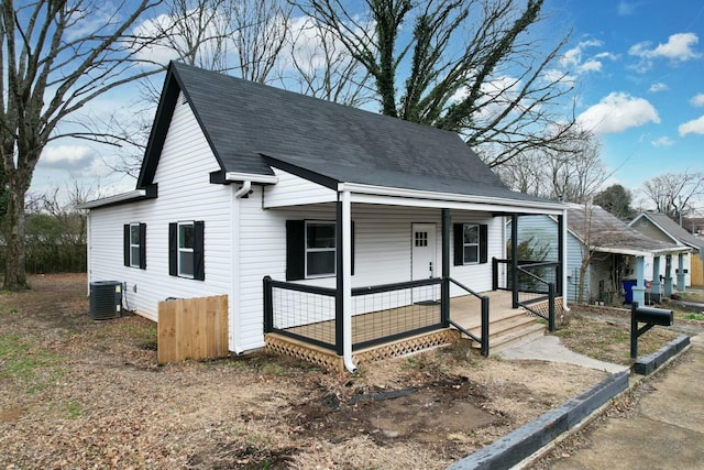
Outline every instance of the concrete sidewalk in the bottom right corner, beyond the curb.
POLYGON ((634 414, 588 431, 588 447, 556 461, 552 470, 704 468, 704 336, 676 365, 648 379, 634 414))

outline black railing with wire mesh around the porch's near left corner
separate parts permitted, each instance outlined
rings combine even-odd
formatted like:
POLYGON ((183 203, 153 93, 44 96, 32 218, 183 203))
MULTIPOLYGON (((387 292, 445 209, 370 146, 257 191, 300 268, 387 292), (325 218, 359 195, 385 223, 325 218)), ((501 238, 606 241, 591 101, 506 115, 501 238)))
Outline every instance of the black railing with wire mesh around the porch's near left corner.
MULTIPOLYGON (((352 289, 352 349, 442 327, 441 278, 352 289)), ((264 332, 277 332, 342 354, 336 289, 264 277, 264 332)))

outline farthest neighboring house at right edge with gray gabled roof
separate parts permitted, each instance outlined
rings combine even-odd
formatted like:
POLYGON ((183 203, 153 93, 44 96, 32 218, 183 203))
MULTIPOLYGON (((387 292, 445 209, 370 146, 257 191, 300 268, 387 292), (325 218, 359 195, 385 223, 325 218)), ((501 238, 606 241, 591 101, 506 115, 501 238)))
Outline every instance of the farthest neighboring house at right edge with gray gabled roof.
MULTIPOLYGON (((654 240, 689 247, 691 253, 681 253, 672 259, 672 271, 676 273, 678 289, 685 286, 704 285, 704 239, 694 237, 674 220, 659 212, 640 212, 629 223, 630 227, 654 240)), ((666 264, 660 265, 660 275, 666 275, 666 264)))

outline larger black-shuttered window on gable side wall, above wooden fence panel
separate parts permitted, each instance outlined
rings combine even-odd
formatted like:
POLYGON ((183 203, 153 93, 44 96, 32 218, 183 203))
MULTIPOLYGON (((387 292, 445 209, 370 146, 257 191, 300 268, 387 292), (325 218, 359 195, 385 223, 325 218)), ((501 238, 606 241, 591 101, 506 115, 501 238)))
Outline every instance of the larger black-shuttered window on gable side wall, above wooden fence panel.
POLYGON ((173 276, 205 281, 202 221, 168 225, 168 273, 173 276))

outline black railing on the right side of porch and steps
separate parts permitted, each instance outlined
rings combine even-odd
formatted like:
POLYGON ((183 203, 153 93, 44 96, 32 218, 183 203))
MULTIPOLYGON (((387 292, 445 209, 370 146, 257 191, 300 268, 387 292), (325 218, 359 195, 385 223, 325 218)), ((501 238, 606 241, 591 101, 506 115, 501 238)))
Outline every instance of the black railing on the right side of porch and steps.
POLYGON ((494 289, 512 291, 514 307, 521 306, 548 321, 554 331, 554 298, 561 285, 560 263, 519 261, 516 273, 512 260, 493 260, 494 289), (536 308, 536 304, 548 302, 548 313, 536 308))

